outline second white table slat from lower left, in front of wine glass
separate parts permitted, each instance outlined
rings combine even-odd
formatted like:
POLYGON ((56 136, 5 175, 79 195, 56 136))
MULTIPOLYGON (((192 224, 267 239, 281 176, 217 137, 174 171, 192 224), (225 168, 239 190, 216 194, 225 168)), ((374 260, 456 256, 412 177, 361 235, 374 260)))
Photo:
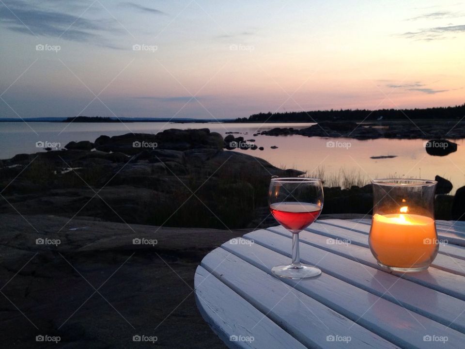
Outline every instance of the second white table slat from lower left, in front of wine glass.
POLYGON ((336 348, 327 341, 331 334, 351 336, 344 348, 396 347, 222 248, 207 254, 202 267, 307 347, 336 348))

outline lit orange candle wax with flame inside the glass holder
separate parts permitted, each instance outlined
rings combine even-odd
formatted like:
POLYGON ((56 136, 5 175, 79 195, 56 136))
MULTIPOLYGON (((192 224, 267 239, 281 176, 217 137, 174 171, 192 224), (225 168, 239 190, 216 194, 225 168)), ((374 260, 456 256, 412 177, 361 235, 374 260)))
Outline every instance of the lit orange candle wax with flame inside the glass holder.
POLYGON ((383 265, 395 268, 417 268, 429 265, 437 254, 434 219, 408 214, 374 214, 370 230, 370 249, 383 265))

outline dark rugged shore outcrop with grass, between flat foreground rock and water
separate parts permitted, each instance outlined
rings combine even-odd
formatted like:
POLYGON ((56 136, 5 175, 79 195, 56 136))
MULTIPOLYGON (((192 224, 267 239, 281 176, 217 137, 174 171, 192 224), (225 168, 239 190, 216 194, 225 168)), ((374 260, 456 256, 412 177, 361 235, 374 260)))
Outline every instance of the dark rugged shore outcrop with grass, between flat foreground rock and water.
MULTIPOLYGON (((28 214, 79 211, 112 222, 233 229, 266 205, 271 176, 303 174, 225 151, 221 135, 208 129, 100 136, 92 151, 70 144, 2 160, 4 187, 17 176, 2 195, 28 214)), ((0 203, 0 213, 13 212, 0 203)))

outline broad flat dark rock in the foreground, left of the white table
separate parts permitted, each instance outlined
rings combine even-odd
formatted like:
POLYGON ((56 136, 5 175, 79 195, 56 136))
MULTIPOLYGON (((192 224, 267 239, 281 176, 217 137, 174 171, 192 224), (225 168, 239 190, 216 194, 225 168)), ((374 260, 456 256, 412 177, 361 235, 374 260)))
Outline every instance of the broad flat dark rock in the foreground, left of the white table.
MULTIPOLYGON (((116 210, 121 214, 138 209, 116 210)), ((2 303, 1 329, 8 334, 2 336, 3 348, 156 348, 159 343, 170 348, 225 348, 202 319, 195 298, 187 296, 205 254, 244 232, 151 225, 129 229, 121 221, 98 222, 82 215, 70 221, 74 213, 59 217, 23 212, 24 220, 16 212, 0 216, 2 286, 11 280, 2 292, 15 304, 6 299, 2 303), (61 244, 37 245, 39 237, 60 239, 61 244), (134 244, 135 238, 156 239, 157 244, 134 244), (98 289, 104 281, 99 291, 111 306, 98 294, 89 298, 92 286, 98 289), (25 326, 28 320, 16 306, 39 331, 29 322, 25 326), (161 321, 163 327, 154 331, 153 323, 161 321), (37 343, 40 333, 59 335, 61 342, 37 343), (137 333, 156 335, 158 341, 135 345, 137 333)))

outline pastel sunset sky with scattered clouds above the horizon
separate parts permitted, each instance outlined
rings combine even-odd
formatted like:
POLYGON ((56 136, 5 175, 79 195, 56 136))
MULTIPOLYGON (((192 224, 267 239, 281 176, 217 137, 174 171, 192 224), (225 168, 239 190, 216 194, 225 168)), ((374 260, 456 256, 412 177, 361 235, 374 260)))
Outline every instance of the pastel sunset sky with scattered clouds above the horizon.
POLYGON ((457 0, 0 0, 0 117, 465 103, 457 0))

